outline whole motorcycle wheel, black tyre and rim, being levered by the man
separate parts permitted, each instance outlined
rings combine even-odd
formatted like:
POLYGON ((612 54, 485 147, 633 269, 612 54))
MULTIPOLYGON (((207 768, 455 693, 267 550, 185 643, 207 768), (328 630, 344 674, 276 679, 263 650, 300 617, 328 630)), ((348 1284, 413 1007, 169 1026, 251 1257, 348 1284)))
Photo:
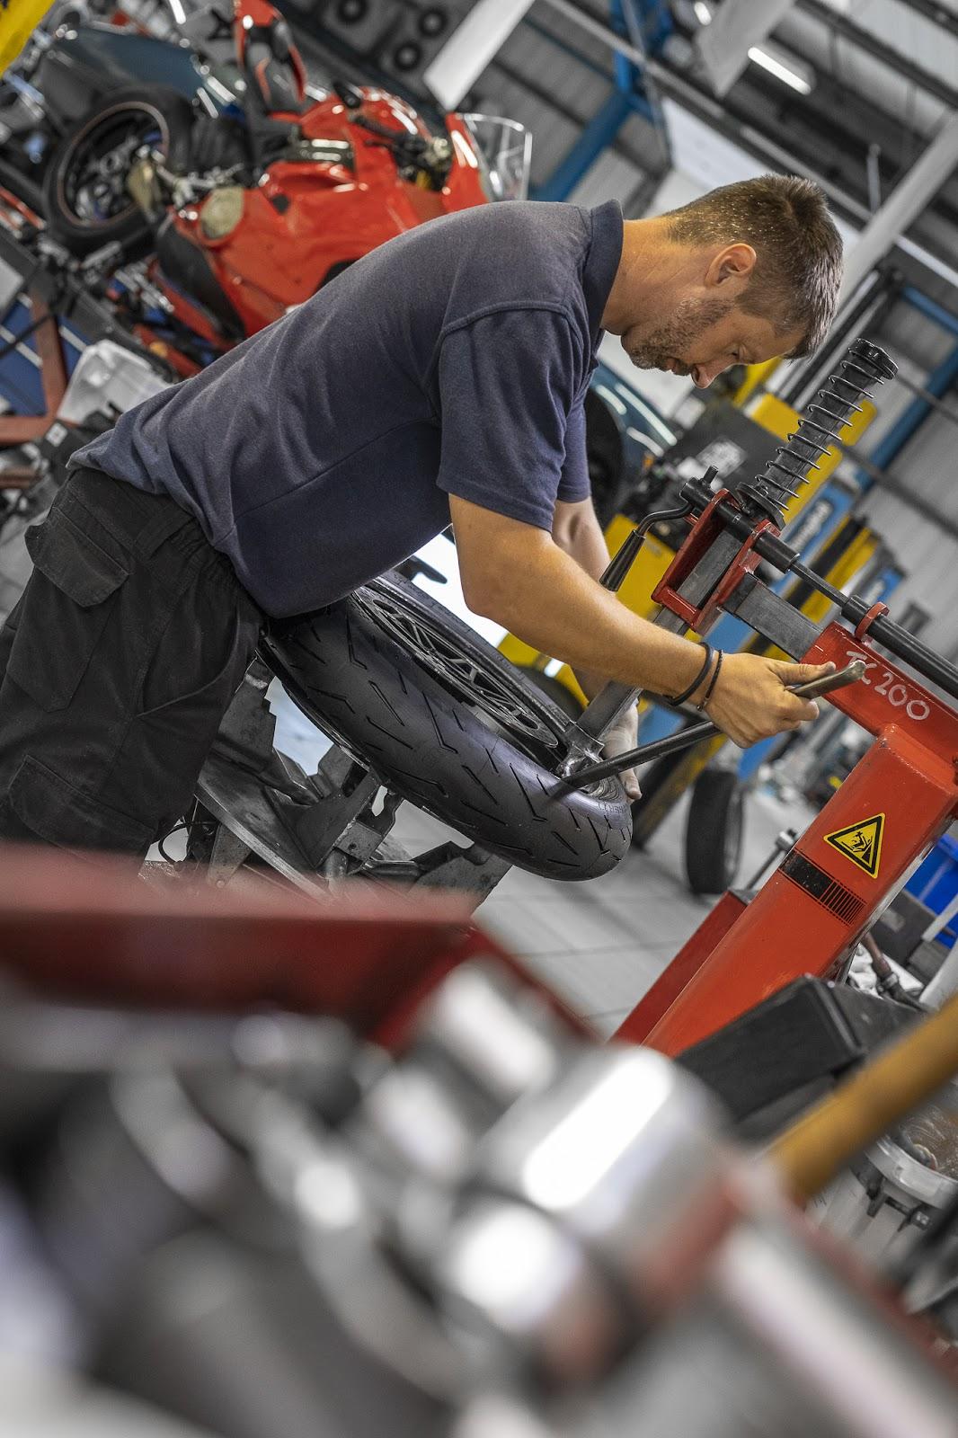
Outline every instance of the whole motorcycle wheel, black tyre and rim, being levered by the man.
POLYGON ((272 631, 263 654, 325 733, 492 853, 548 879, 596 879, 629 851, 619 779, 561 792, 565 715, 407 580, 384 575, 272 631))

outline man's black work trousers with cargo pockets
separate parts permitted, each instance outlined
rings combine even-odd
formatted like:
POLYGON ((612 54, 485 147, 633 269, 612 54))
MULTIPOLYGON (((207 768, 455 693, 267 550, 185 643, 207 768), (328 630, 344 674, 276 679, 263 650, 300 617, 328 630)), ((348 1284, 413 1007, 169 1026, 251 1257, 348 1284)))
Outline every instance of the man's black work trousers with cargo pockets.
POLYGON ((196 519, 75 470, 0 631, 0 837, 145 854, 188 811, 263 615, 196 519))

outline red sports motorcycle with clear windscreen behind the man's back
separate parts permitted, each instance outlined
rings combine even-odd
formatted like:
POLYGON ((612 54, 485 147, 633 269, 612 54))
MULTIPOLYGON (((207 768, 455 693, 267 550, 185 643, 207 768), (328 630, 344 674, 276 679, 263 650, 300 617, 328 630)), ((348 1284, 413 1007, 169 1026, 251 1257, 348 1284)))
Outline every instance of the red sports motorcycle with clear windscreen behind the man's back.
POLYGON ((183 375, 377 244, 509 197, 482 127, 498 127, 499 152, 502 137, 514 145, 514 193, 528 168, 528 139, 509 121, 447 115, 433 134, 380 89, 337 83, 311 98, 289 29, 266 0, 234 0, 233 33, 242 119, 199 115, 170 95, 157 134, 127 158, 125 190, 150 220, 154 253, 115 272, 111 299, 183 375))

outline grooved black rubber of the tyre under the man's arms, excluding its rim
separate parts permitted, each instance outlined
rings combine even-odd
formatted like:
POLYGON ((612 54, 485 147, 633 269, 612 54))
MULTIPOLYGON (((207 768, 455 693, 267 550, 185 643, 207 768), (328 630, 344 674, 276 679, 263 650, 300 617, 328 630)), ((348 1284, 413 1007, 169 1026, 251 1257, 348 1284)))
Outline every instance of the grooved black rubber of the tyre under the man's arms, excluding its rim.
MULTIPOLYGON (((508 666, 409 581, 387 575, 374 582, 413 611, 442 618, 488 666, 508 666)), ((619 779, 557 792, 548 768, 449 692, 355 597, 268 636, 263 650, 308 718, 364 758, 386 785, 466 838, 532 873, 567 880, 607 873, 629 851, 631 811, 619 779)), ((508 669, 511 682, 525 687, 521 672, 508 669)), ((544 702, 538 692, 535 702, 544 702)))

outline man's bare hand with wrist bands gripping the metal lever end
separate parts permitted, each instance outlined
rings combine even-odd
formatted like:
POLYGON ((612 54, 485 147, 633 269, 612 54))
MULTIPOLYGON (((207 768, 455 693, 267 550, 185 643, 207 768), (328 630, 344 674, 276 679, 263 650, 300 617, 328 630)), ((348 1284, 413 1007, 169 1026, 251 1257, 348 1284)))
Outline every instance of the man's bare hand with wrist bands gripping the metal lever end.
POLYGON ((834 664, 788 664, 758 654, 725 654, 706 713, 729 739, 747 749, 749 743, 817 719, 814 699, 790 695, 788 687, 833 672, 834 664))

